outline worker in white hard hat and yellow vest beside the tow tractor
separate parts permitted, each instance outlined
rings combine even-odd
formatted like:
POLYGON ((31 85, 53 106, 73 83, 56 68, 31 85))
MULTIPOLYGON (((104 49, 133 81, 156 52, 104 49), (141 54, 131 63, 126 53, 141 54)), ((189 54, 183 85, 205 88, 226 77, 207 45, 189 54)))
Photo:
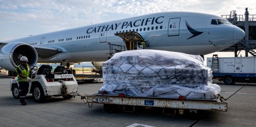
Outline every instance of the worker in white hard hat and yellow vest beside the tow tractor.
POLYGON ((16 72, 18 73, 18 86, 19 86, 19 95, 21 105, 27 105, 25 97, 28 94, 29 81, 29 65, 27 64, 28 58, 26 56, 20 57, 21 64, 16 67, 16 72))

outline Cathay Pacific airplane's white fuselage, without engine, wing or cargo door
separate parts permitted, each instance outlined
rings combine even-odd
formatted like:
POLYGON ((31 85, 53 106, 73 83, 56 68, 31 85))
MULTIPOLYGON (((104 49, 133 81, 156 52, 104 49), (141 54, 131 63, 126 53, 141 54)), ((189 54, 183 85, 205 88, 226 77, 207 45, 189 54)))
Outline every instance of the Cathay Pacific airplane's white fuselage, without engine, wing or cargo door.
POLYGON ((47 58, 39 56, 38 59, 38 62, 57 63, 106 61, 110 52, 109 43, 126 46, 122 38, 114 35, 119 32, 138 32, 149 49, 195 55, 217 52, 243 39, 242 29, 233 24, 211 24, 213 19, 224 20, 219 16, 203 13, 155 13, 7 42, 23 42, 35 47, 60 49, 62 52, 59 54, 47 58), (202 33, 191 37, 193 30, 189 31, 188 26, 202 33))

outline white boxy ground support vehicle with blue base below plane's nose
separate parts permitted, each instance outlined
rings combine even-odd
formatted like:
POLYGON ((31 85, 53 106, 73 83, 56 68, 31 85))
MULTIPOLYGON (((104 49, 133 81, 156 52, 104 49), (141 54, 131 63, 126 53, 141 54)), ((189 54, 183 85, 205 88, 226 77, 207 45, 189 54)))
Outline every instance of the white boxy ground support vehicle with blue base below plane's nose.
POLYGON ((214 79, 225 84, 235 82, 256 82, 256 57, 218 57, 207 58, 207 67, 213 71, 214 79))

